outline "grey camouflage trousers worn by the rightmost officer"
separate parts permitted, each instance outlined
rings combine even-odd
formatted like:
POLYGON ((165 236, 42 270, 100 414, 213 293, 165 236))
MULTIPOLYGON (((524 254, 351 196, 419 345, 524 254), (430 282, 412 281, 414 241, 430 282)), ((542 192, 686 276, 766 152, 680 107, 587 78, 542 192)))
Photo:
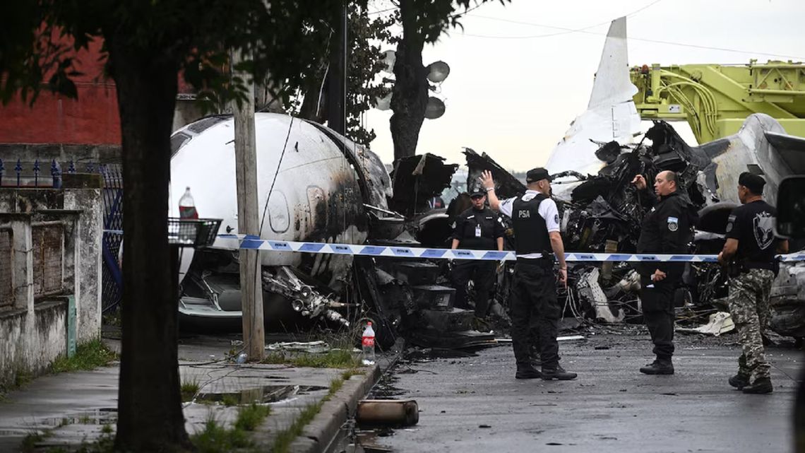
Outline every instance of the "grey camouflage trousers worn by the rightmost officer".
POLYGON ((766 361, 761 334, 769 326, 773 280, 774 272, 766 269, 750 269, 729 280, 729 312, 743 347, 738 376, 750 382, 769 377, 770 364, 766 361))

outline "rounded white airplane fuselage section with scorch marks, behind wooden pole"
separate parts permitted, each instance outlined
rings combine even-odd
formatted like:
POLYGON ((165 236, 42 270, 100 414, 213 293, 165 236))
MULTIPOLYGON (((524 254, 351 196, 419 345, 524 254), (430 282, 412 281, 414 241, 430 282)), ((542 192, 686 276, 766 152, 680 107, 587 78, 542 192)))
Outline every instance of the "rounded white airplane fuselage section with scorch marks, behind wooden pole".
MULTIPOLYGON (((255 133, 260 238, 364 243, 365 206, 386 209, 390 195, 390 178, 378 156, 318 124, 283 114, 256 114, 255 133)), ((239 233, 233 135, 231 116, 204 118, 172 135, 171 215, 178 216, 178 200, 190 187, 201 216, 223 219, 221 233, 239 233)), ((308 287, 324 285, 338 293, 349 281, 351 264, 346 255, 262 253, 264 285, 284 285, 291 292, 300 283, 281 268, 292 269, 308 287)), ((180 270, 188 296, 180 313, 239 318, 237 252, 212 247, 186 253, 180 270)))

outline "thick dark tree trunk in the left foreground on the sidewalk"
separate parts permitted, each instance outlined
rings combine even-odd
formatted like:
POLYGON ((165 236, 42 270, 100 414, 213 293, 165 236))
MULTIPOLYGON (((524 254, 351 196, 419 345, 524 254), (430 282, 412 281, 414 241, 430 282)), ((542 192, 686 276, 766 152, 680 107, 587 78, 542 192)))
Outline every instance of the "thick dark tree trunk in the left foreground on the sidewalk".
MULTIPOLYGON (((111 39, 109 39, 111 38, 111 39)), ((122 129, 123 299, 118 451, 192 451, 182 414, 177 276, 167 243, 177 59, 111 36, 122 129)))

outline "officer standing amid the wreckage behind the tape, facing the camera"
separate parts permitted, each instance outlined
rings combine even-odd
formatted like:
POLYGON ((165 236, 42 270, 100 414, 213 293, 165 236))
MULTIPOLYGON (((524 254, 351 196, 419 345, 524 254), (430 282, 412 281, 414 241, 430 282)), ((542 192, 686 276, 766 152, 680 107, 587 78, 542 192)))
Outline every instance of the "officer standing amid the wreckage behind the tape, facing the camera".
MULTIPOLYGON (((453 224, 452 248, 471 250, 503 250, 502 220, 485 206, 486 191, 480 185, 470 189, 473 206, 456 216, 453 224)), ((456 288, 456 306, 468 309, 467 283, 475 285, 475 324, 482 324, 489 310, 489 291, 495 281, 497 261, 460 260, 452 269, 452 281, 456 288)))

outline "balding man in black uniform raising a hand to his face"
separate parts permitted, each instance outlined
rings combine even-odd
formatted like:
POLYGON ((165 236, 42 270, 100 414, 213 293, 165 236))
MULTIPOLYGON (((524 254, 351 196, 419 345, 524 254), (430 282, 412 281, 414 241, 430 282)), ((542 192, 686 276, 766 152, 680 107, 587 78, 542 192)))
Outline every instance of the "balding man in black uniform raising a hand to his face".
MULTIPOLYGON (((632 183, 646 189, 646 178, 634 177, 632 183)), ((647 193, 654 206, 643 218, 638 253, 687 253, 696 223, 696 210, 678 187, 675 172, 659 172, 654 178, 654 193, 647 193)), ((682 281, 684 264, 642 262, 640 274, 643 319, 654 343, 653 363, 640 368, 645 374, 674 374, 671 357, 674 355, 674 292, 682 281)))

